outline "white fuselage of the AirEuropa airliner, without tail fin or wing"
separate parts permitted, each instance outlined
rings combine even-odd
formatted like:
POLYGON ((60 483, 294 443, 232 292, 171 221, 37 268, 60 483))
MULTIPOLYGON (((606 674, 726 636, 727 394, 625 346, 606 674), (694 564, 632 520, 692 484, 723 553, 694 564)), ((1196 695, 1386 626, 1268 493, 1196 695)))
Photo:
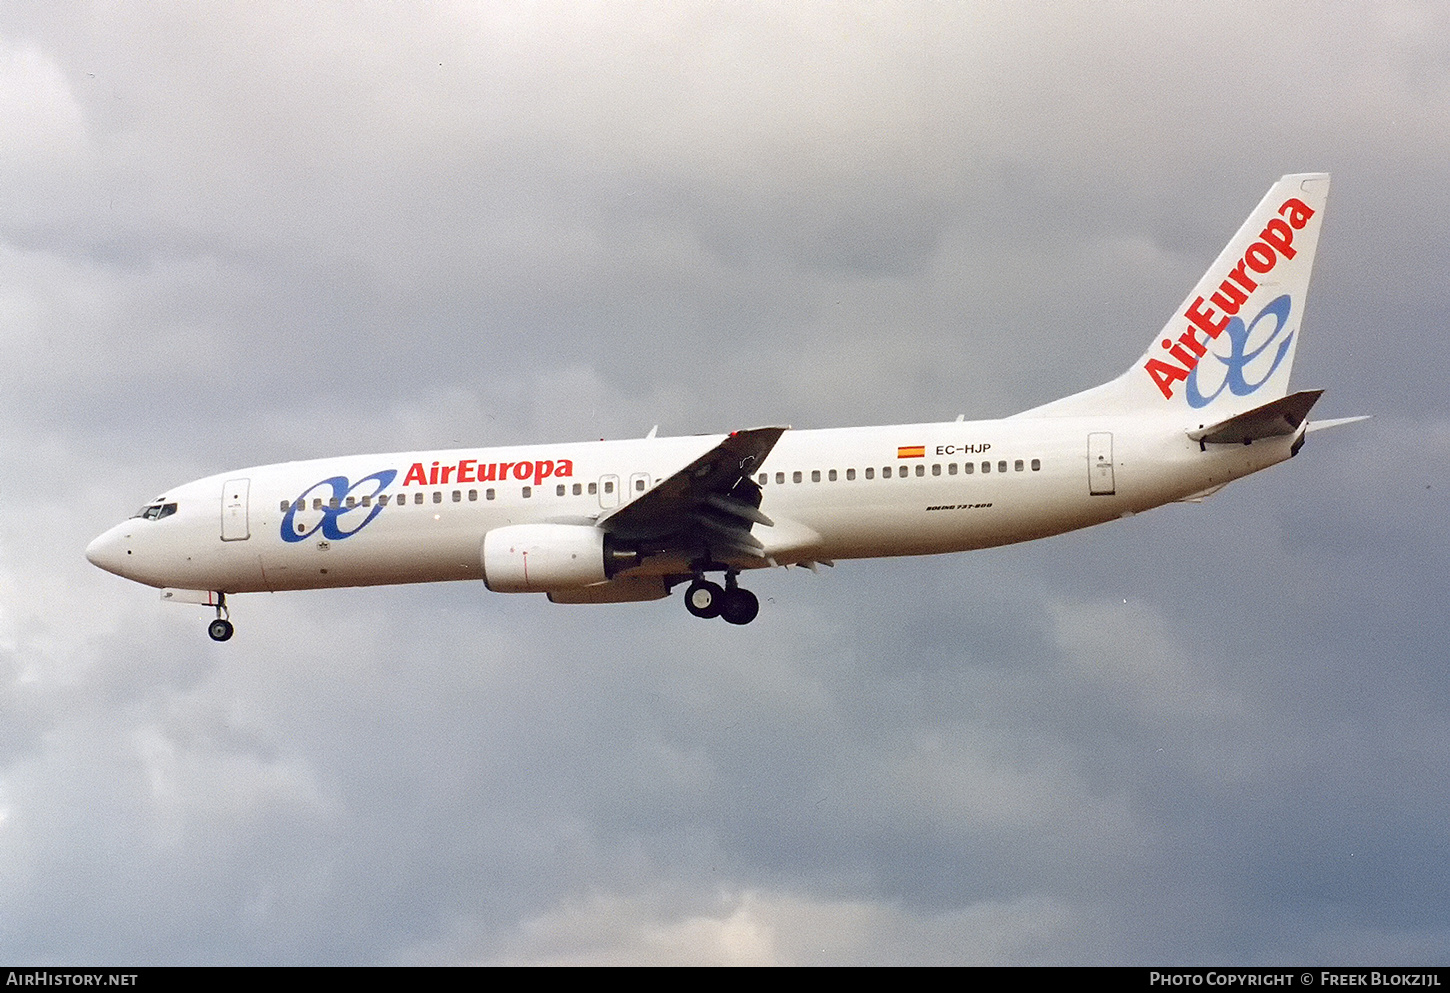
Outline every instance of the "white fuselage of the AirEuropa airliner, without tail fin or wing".
MULTIPOLYGON (((476 580, 489 531, 593 523, 722 438, 245 468, 167 491, 155 503, 175 504, 174 512, 132 518, 87 555, 148 586, 220 593, 476 580)), ((1044 538, 1214 490, 1283 461, 1293 441, 1201 446, 1176 419, 1143 415, 787 431, 750 473, 774 526, 753 528, 764 555, 747 567, 1044 538)), ((657 557, 629 571, 682 570, 689 564, 657 557)))

